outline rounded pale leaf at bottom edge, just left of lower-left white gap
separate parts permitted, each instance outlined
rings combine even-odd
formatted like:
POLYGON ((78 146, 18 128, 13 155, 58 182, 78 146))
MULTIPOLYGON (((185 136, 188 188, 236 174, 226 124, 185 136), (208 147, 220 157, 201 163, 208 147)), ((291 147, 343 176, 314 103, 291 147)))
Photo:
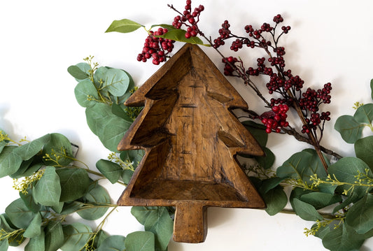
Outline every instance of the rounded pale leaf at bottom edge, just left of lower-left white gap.
POLYGON ((81 250, 92 236, 92 229, 80 222, 64 225, 62 230, 64 231, 64 245, 61 247, 63 251, 81 250))

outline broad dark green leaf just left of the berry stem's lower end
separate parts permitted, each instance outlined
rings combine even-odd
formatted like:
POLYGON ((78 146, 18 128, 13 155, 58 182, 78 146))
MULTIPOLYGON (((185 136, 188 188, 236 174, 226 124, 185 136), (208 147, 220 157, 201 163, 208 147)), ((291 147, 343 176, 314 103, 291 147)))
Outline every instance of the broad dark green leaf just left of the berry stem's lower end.
POLYGON ((311 175, 317 174, 318 178, 326 177, 323 164, 318 159, 316 151, 312 149, 295 153, 277 168, 276 173, 280 178, 302 179, 307 184, 311 183, 311 175))

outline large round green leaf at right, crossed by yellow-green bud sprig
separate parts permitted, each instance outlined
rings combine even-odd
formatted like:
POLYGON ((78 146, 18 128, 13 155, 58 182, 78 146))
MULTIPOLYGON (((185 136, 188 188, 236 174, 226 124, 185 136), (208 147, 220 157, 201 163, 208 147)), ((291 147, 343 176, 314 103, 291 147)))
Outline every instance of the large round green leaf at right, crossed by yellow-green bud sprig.
POLYGON ((365 173, 366 170, 368 171, 367 176, 373 178, 373 173, 370 171, 369 166, 356 157, 344 157, 328 168, 330 177, 333 180, 337 179, 339 182, 348 183, 337 187, 337 191, 348 191, 346 194, 348 196, 351 192, 355 192, 360 197, 364 196, 370 190, 370 187, 355 185, 358 182, 356 175, 365 173))

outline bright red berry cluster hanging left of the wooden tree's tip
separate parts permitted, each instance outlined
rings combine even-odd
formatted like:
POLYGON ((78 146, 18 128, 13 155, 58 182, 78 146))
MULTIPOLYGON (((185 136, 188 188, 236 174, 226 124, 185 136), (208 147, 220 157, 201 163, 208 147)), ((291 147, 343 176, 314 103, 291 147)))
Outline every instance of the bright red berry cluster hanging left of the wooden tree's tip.
POLYGON ((137 61, 146 62, 153 58, 153 64, 160 64, 166 61, 166 55, 174 49, 175 41, 167 38, 159 38, 167 33, 167 29, 159 28, 157 31, 149 31, 149 36, 145 39, 143 51, 137 55, 137 61))

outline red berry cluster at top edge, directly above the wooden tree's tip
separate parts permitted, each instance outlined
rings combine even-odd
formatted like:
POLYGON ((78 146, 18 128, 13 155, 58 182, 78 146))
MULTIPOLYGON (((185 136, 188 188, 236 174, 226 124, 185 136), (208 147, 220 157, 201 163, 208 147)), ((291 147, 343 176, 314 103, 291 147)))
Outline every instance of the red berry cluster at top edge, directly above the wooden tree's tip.
POLYGON ((185 10, 183 11, 182 15, 177 15, 174 18, 172 26, 174 26, 176 29, 181 29, 181 26, 184 24, 186 27, 188 27, 187 31, 185 32, 185 38, 197 36, 197 34, 200 32, 197 23, 199 22, 199 15, 203 10, 204 6, 200 5, 192 12, 192 1, 187 0, 185 10))

